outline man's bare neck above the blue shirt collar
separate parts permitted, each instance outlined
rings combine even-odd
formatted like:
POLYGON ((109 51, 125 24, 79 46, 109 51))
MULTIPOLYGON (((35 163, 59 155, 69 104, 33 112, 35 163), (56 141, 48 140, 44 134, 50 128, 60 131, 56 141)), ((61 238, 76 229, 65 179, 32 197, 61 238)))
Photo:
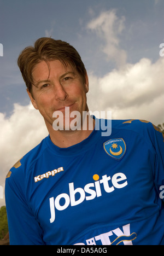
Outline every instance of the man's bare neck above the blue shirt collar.
POLYGON ((60 148, 67 148, 67 147, 71 147, 75 144, 80 143, 81 141, 84 141, 84 139, 86 139, 87 137, 89 137, 89 135, 91 134, 91 132, 93 131, 93 129, 95 128, 95 119, 92 119, 90 117, 90 115, 86 118, 86 129, 84 130, 83 127, 81 127, 80 130, 69 130, 69 131, 65 131, 65 130, 58 130, 55 131, 52 127, 52 125, 50 124, 46 124, 48 131, 49 131, 49 135, 51 138, 51 141, 60 148))

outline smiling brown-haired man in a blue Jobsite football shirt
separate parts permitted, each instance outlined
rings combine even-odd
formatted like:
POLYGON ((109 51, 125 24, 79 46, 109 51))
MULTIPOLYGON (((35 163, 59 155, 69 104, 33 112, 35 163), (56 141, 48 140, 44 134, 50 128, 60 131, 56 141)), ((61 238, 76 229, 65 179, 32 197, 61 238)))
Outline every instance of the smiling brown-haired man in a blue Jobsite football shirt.
POLYGON ((40 38, 18 65, 49 136, 7 175, 10 244, 163 245, 159 129, 143 120, 113 120, 112 134, 102 136, 96 126, 102 120, 83 117, 87 72, 66 42, 40 38), (79 113, 77 129, 72 113, 79 113))

